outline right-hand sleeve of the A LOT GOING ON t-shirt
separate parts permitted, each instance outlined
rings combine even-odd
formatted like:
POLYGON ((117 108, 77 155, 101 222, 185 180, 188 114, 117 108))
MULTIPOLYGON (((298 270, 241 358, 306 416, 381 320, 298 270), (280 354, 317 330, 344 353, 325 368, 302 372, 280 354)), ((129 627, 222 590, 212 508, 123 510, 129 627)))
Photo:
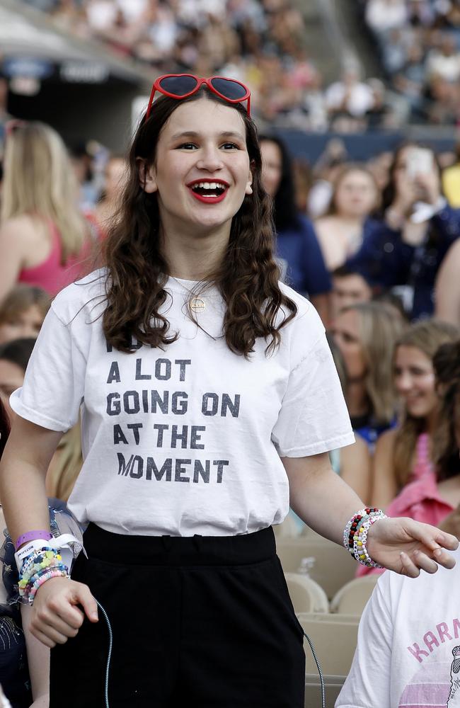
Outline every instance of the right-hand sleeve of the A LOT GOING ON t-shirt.
POLYGON ((272 442, 280 457, 306 457, 352 445, 355 436, 338 373, 323 324, 311 304, 294 335, 294 363, 272 442), (313 345, 299 357, 306 330, 313 345))

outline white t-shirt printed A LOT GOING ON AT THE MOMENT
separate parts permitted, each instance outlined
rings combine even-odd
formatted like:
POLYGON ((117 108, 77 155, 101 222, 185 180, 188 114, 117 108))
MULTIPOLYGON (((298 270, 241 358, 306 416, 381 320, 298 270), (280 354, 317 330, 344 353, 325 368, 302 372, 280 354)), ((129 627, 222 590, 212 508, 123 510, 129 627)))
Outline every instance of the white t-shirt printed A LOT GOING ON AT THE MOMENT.
POLYGON ((57 295, 11 396, 19 416, 50 430, 73 426, 81 406, 76 518, 139 535, 234 535, 280 523, 289 509, 280 456, 354 441, 314 307, 281 285, 299 312, 275 355, 265 356, 260 338, 246 360, 222 337, 217 288, 202 295, 197 327, 186 304, 195 283, 169 278, 162 312, 178 341, 127 354, 103 336, 104 278, 96 271, 57 295))

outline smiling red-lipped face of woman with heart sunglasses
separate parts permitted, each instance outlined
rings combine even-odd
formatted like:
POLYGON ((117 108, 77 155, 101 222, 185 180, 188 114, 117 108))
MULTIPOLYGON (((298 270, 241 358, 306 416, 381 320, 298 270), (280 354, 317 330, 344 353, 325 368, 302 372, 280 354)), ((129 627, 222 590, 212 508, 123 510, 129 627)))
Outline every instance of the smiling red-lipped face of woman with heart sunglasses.
POLYGON ((166 239, 218 232, 228 241, 251 183, 243 118, 231 106, 200 98, 179 104, 166 121, 142 186, 157 194, 166 239))

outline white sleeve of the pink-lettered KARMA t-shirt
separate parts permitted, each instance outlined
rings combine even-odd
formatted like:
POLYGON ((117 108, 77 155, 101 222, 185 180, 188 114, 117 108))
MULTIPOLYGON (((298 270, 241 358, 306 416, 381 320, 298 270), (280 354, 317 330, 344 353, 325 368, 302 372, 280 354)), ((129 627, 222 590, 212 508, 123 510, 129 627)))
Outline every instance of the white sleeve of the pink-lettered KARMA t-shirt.
POLYGON ((389 572, 379 579, 364 608, 352 667, 335 708, 390 708, 393 618, 386 603, 389 572))

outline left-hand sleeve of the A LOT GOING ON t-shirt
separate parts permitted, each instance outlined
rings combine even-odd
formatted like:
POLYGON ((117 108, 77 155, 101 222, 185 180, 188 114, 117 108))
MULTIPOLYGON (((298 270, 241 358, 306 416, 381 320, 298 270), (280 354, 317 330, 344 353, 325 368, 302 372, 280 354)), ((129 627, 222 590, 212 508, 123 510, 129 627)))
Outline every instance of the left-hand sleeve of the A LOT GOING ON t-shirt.
POLYGON ((51 307, 25 372, 10 398, 18 416, 65 433, 75 425, 84 397, 86 359, 66 324, 51 307))

